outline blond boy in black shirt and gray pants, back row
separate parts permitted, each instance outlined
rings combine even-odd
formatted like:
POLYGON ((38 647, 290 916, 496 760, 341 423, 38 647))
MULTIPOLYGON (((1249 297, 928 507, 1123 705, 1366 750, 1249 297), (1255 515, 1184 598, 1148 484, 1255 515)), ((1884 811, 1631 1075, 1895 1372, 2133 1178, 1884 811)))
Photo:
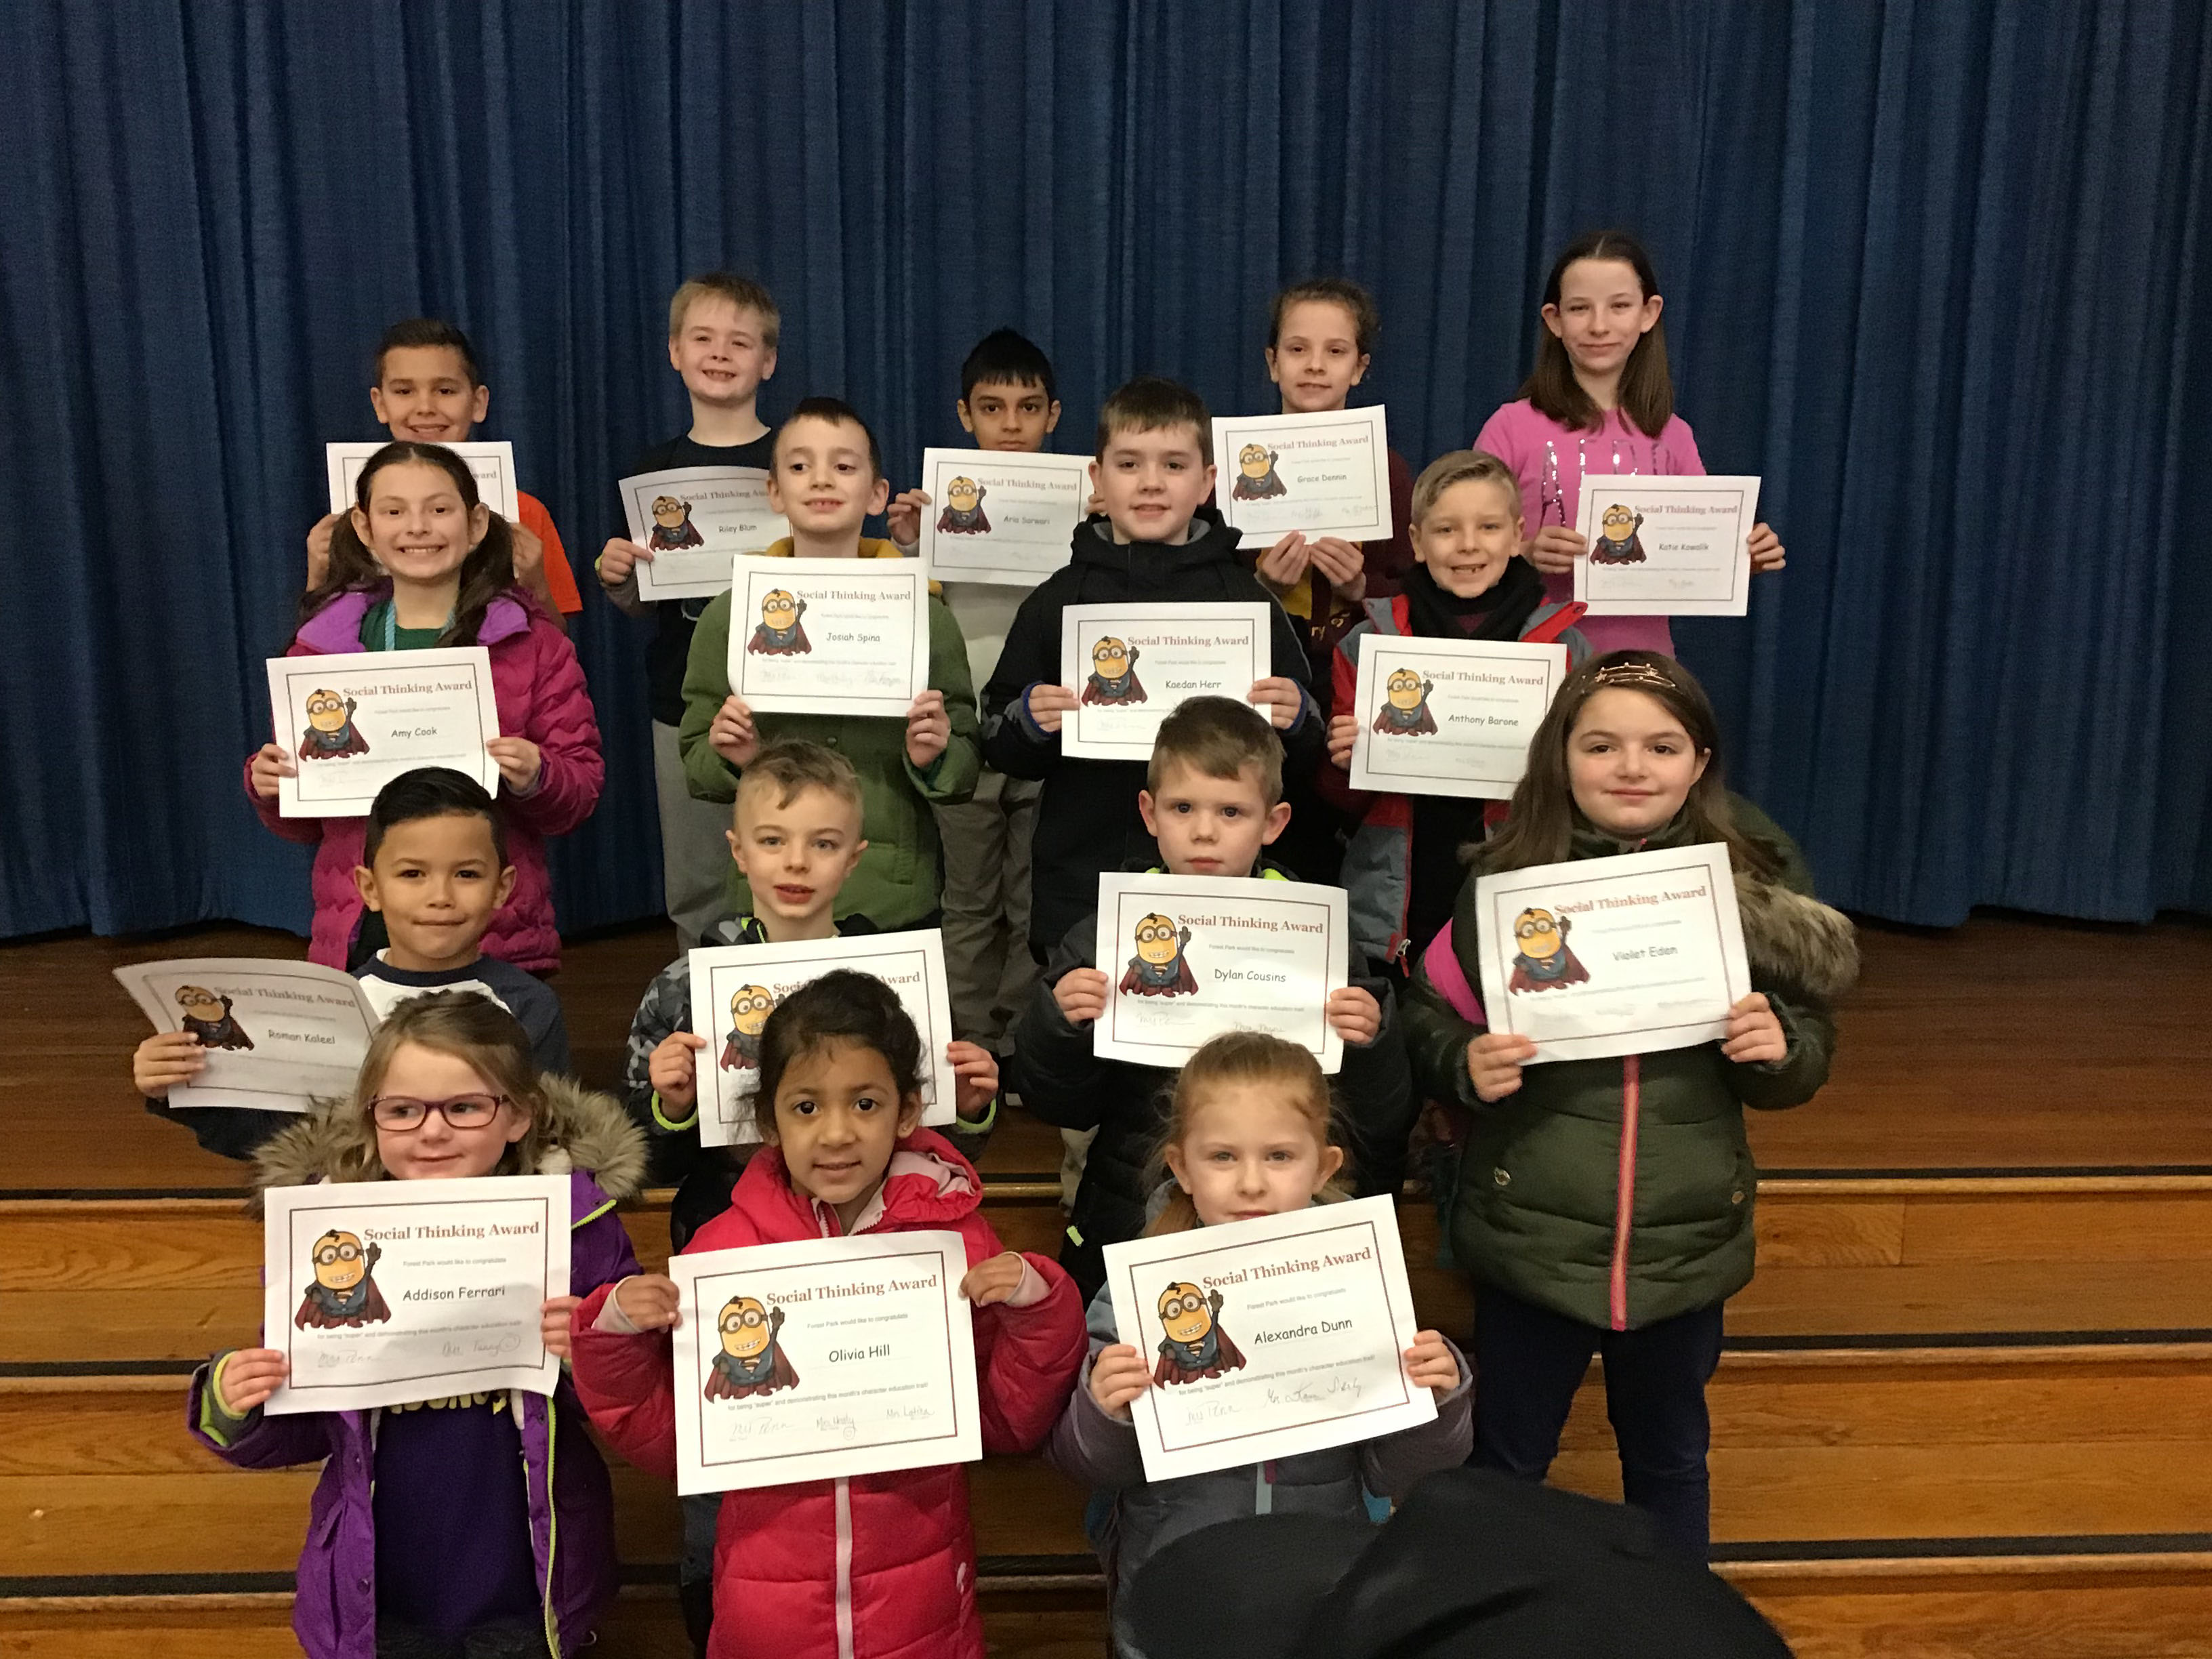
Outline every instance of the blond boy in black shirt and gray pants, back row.
MULTIPOLYGON (((688 431, 653 445, 626 476, 675 467, 770 467, 770 436, 761 422, 761 387, 776 374, 783 314, 774 296, 750 276, 710 270, 684 283, 668 301, 668 365, 690 394, 688 431)), ((690 949, 721 920, 726 860, 723 814, 695 801, 684 781, 679 728, 684 726, 684 666, 706 599, 657 599, 637 593, 637 562, 653 549, 613 538, 599 551, 599 586, 615 608, 655 619, 646 644, 646 697, 653 710, 653 790, 661 812, 661 900, 690 949)))

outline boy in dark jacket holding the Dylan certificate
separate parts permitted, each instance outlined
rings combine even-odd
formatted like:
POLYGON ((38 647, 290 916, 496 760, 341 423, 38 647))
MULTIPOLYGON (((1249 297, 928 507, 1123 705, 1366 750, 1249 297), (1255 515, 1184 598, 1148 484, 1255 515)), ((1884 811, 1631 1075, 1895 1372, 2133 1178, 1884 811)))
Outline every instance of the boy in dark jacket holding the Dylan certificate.
MULTIPOLYGON (((1228 697, 1192 697, 1161 723, 1146 785, 1137 812, 1159 838, 1170 876, 1285 880, 1265 858, 1290 823, 1283 752, 1256 710, 1228 697)), ((1099 1252, 1144 1230, 1152 1152, 1164 1128, 1161 1099, 1175 1079, 1161 1066, 1097 1055, 1093 1026, 1106 1011, 1108 980, 1095 951, 1097 920, 1084 916, 1060 940, 1015 1020, 1006 1062, 1029 1110, 1060 1128, 1097 1130, 1060 1248, 1060 1265, 1086 1301, 1106 1283, 1099 1252)), ((1405 1146, 1418 1102, 1389 987, 1360 980, 1334 991, 1327 1020, 1345 1042, 1343 1095, 1358 1197, 1396 1192, 1405 1183, 1405 1146)))

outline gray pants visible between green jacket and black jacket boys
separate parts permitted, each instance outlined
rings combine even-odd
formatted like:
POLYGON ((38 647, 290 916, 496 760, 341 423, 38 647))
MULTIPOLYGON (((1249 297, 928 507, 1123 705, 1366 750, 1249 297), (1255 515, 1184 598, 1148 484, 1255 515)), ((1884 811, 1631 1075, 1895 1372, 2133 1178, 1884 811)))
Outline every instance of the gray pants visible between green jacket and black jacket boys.
POLYGON ((1042 783, 984 772, 975 799, 936 807, 945 843, 945 978, 953 1031, 998 1048, 1037 980, 1029 958, 1029 838, 1042 783))

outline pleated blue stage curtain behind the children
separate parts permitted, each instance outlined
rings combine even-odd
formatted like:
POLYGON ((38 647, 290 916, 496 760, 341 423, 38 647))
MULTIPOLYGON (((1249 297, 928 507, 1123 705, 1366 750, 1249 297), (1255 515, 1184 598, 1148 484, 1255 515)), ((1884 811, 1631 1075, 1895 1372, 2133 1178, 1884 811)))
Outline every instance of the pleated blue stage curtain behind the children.
POLYGON ((956 442, 1015 323, 1064 449, 1137 369, 1270 407, 1265 303, 1383 303, 1420 465, 1624 223, 1679 407, 1790 571, 1677 628, 1838 902, 2212 909, 2212 31, 2190 0, 15 0, 0 9, 0 933, 305 925, 239 787, 365 356, 478 341, 586 591, 608 745, 564 925, 659 909, 641 624, 591 560, 686 422, 675 283, 757 272, 763 396, 956 442))

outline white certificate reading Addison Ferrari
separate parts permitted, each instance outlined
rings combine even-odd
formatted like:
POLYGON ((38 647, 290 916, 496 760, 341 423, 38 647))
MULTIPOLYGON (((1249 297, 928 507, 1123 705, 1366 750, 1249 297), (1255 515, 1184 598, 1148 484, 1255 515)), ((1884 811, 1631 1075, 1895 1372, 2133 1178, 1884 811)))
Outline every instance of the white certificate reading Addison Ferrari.
POLYGON ((321 1181, 265 1194, 261 1340, 292 1363, 268 1411, 551 1394, 540 1329, 568 1294, 568 1177, 321 1181))

